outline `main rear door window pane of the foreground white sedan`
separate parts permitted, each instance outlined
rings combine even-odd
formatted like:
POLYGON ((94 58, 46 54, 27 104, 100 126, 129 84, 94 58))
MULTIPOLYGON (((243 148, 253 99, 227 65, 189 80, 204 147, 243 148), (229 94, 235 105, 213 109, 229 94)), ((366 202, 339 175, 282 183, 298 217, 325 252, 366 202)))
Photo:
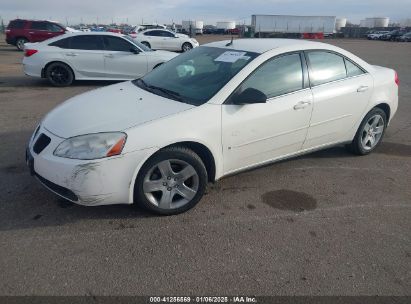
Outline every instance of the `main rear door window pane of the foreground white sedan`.
POLYGON ((313 85, 320 85, 347 77, 344 58, 334 53, 323 51, 308 52, 311 65, 310 80, 313 85))

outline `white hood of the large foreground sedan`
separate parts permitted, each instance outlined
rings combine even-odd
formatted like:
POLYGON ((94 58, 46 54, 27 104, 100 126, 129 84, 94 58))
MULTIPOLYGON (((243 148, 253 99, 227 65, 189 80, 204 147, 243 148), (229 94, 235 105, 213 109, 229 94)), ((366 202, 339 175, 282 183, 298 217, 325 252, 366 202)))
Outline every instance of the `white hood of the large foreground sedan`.
POLYGON ((67 100, 47 114, 42 125, 59 137, 69 138, 122 131, 193 107, 152 94, 128 81, 67 100))

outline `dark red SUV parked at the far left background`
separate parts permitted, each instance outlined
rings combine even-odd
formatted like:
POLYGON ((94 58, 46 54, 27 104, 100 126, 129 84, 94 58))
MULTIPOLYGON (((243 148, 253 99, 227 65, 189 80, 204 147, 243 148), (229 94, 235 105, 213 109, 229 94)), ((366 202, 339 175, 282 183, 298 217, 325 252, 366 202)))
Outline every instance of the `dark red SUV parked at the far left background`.
POLYGON ((52 21, 15 19, 6 29, 6 42, 23 50, 26 42, 40 42, 66 32, 66 28, 52 21))

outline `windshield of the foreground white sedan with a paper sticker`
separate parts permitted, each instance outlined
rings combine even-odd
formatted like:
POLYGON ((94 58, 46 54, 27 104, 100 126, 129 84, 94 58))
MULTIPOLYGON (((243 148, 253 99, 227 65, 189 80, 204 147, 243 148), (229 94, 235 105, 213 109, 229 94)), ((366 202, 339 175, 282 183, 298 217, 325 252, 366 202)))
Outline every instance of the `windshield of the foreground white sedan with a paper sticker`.
POLYGON ((177 56, 133 83, 154 94, 199 106, 258 55, 202 46, 177 56))

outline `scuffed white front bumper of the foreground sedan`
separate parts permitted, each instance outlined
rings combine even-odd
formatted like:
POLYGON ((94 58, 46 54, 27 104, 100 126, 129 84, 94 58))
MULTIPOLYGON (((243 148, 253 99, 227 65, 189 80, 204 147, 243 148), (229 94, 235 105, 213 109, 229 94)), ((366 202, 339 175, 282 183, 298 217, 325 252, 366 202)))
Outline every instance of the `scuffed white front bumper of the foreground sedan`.
POLYGON ((96 160, 77 160, 53 155, 63 141, 44 128, 30 140, 26 162, 34 175, 55 194, 85 206, 133 203, 138 169, 151 155, 151 149, 96 160), (33 150, 41 134, 50 143, 39 153, 33 150))

